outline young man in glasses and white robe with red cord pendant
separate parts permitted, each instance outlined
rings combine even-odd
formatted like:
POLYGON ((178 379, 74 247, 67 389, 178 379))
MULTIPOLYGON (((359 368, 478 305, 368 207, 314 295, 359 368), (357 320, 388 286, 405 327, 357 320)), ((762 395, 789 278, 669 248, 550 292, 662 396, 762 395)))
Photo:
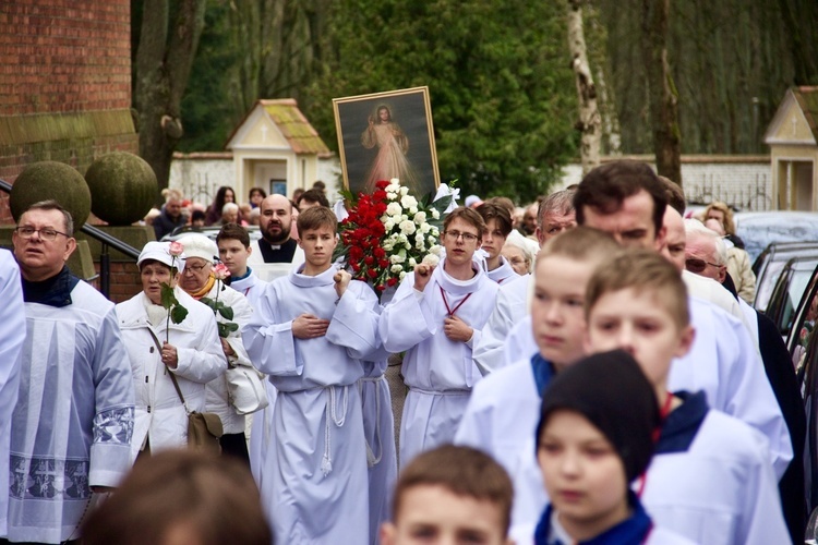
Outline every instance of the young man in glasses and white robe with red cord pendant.
POLYGON ((497 284, 473 261, 485 231, 471 208, 443 223, 445 258, 420 264, 400 282, 378 324, 384 348, 406 351, 401 373, 409 393, 400 425, 400 463, 452 443, 481 377, 471 358, 494 308, 497 284))

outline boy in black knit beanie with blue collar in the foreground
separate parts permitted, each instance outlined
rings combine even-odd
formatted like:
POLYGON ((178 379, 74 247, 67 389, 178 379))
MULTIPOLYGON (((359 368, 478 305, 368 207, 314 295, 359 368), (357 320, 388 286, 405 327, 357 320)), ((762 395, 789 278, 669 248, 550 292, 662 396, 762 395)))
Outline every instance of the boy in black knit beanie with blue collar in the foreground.
POLYGON ((660 422, 653 387, 626 352, 596 354, 560 374, 537 431, 551 505, 534 543, 693 543, 655 528, 628 487, 650 462, 660 422))

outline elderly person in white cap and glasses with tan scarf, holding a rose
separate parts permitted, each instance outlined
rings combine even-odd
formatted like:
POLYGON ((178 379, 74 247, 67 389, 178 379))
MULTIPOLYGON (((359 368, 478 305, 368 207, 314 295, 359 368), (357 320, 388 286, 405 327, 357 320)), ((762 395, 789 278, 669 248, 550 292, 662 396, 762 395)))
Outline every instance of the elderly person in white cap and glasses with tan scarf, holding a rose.
MULTIPOLYGON (((222 337, 221 350, 230 366, 243 365, 252 368, 244 343, 241 339, 241 327, 250 322, 253 308, 246 298, 234 289, 217 281, 213 274, 213 264, 219 253, 216 243, 204 234, 185 234, 179 242, 184 246, 184 269, 182 269, 179 287, 195 300, 208 298, 229 306, 233 311, 232 319, 226 319, 220 313, 216 313, 219 323, 231 322, 238 324, 239 329, 230 331, 222 337)), ((205 387, 206 409, 215 412, 221 419, 224 435, 219 439, 221 452, 230 455, 250 464, 244 427, 246 420, 244 414, 239 414, 230 404, 228 395, 227 375, 214 378, 205 387)))

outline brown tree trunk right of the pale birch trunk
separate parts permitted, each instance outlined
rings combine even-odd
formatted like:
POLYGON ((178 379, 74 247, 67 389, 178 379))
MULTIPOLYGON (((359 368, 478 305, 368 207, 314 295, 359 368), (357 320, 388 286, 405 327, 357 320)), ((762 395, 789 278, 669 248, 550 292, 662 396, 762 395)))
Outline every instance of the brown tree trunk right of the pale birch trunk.
POLYGON ((682 185, 678 93, 667 62, 670 0, 642 0, 642 60, 648 71, 657 170, 682 185))

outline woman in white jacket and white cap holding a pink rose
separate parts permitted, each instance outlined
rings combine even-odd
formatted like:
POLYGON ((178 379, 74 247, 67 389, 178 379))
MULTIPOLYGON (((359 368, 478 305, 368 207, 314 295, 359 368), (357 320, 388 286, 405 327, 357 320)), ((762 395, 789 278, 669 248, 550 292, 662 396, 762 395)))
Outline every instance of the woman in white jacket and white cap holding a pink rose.
POLYGON ((136 392, 131 441, 134 458, 141 451, 149 453, 188 444, 188 414, 171 373, 188 410, 204 412, 205 384, 227 368, 213 312, 176 287, 176 267, 181 269, 183 261, 171 255, 170 244, 145 244, 136 262, 142 292, 117 305, 136 392), (179 324, 168 319, 168 311, 161 305, 163 283, 173 288, 179 305, 188 310, 179 324))

